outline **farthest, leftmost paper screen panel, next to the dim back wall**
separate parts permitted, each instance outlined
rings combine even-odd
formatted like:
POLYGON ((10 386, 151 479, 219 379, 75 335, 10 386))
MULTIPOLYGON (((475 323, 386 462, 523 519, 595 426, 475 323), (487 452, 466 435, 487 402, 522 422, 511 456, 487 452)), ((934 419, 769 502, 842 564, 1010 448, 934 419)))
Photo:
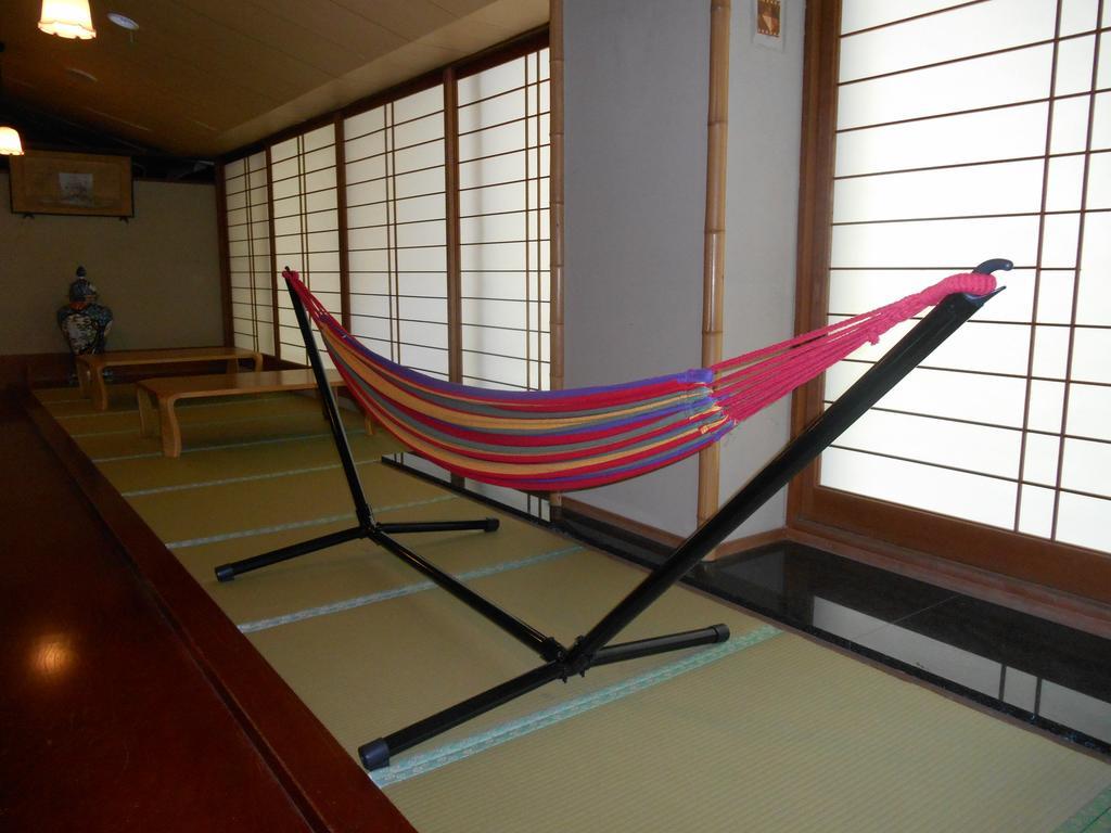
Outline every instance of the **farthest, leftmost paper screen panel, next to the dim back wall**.
POLYGON ((228 273, 236 347, 273 354, 273 278, 266 153, 223 169, 228 273))

